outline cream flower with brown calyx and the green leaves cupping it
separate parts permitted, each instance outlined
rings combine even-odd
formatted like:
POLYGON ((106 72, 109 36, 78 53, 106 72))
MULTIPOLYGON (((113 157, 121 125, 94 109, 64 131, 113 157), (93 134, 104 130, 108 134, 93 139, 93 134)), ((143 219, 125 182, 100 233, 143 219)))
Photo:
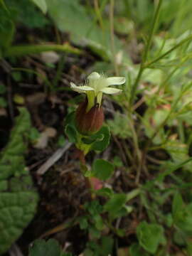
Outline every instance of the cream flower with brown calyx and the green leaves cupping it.
POLYGON ((121 89, 110 85, 122 85, 125 78, 107 78, 97 72, 91 73, 85 85, 75 85, 70 82, 70 87, 75 92, 85 93, 85 101, 80 103, 78 109, 66 118, 65 133, 71 142, 86 155, 90 150, 102 151, 110 142, 110 130, 102 126, 104 113, 102 110, 102 94, 118 94, 121 89))

